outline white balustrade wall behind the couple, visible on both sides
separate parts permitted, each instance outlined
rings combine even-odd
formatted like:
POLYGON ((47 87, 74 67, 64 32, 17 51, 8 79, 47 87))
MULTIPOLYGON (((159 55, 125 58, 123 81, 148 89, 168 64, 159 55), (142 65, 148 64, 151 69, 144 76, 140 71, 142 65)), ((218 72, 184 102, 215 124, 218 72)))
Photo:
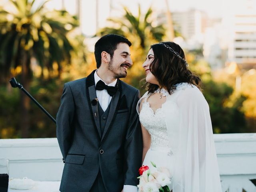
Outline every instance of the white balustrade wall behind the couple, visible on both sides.
MULTIPOLYGON (((214 134, 223 192, 256 192, 256 133, 214 134), (255 182, 254 182, 255 183, 255 182)), ((62 155, 56 138, 1 139, 0 158, 10 177, 60 181, 62 155)))

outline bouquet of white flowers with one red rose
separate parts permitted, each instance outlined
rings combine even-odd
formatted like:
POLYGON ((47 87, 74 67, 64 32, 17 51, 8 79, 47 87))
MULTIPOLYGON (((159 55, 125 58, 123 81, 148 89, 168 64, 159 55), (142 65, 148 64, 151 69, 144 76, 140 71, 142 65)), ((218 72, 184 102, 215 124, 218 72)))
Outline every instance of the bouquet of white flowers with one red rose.
POLYGON ((142 165, 139 169, 140 184, 138 184, 139 192, 170 192, 168 187, 171 184, 171 175, 168 168, 156 167, 156 164, 151 162, 156 170, 150 171, 148 166, 142 165))

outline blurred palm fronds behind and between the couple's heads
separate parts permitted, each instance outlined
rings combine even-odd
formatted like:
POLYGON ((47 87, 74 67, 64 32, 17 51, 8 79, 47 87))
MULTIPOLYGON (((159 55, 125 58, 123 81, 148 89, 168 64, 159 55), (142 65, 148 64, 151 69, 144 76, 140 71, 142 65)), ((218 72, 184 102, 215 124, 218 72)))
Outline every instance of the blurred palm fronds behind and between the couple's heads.
POLYGON ((118 25, 118 27, 106 27, 97 32, 97 35, 105 35, 109 33, 116 33, 127 36, 126 34, 136 35, 140 40, 140 46, 144 49, 146 47, 146 40, 148 36, 152 36, 154 40, 161 41, 165 29, 162 24, 154 26, 152 16, 152 8, 150 7, 146 14, 141 14, 140 5, 138 6, 138 16, 134 16, 127 7, 124 7, 125 14, 121 19, 110 18, 109 21, 118 25))

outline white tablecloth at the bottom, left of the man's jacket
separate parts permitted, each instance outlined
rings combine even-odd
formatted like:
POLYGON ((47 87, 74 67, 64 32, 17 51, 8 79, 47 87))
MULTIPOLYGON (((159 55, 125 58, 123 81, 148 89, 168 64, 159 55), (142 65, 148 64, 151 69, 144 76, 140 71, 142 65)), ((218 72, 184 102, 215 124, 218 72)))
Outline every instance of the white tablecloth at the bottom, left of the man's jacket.
POLYGON ((32 189, 9 189, 8 192, 59 192, 59 189, 60 181, 36 181, 36 184, 32 189))

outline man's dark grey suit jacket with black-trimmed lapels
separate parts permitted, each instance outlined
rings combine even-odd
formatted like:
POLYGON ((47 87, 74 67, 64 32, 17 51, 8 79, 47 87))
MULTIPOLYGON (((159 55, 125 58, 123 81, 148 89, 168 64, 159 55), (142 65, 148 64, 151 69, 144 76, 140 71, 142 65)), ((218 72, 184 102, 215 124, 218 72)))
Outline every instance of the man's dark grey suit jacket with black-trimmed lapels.
POLYGON ((65 161, 61 192, 89 192, 100 171, 108 192, 123 185, 138 184, 142 160, 142 133, 136 104, 140 93, 117 80, 103 134, 97 105, 93 71, 64 85, 58 110, 57 138, 65 161))

